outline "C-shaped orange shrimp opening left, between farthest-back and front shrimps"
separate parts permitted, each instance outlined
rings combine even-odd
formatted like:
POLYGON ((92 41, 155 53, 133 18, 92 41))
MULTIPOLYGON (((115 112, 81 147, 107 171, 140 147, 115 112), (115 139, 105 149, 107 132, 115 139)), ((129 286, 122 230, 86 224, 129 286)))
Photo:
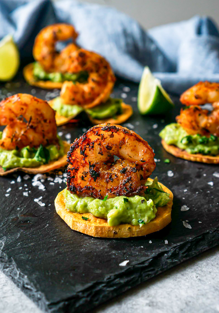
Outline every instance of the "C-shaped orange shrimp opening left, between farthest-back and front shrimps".
POLYGON ((89 77, 86 83, 64 82, 60 92, 64 103, 89 108, 109 98, 115 83, 115 76, 109 63, 102 56, 78 49, 66 60, 66 69, 70 73, 86 71, 89 77))

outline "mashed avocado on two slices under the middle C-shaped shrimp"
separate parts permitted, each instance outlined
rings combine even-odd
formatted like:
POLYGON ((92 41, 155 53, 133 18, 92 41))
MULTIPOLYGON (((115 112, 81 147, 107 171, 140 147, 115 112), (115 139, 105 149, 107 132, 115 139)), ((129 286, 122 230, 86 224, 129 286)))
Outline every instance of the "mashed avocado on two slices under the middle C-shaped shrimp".
MULTIPOLYGON (((122 113, 122 100, 109 98, 105 103, 95 106, 92 109, 87 109, 86 112, 94 119, 105 119, 114 117, 122 113)), ((53 110, 64 117, 74 117, 84 109, 79 105, 70 105, 62 102, 60 97, 53 100, 53 110)))

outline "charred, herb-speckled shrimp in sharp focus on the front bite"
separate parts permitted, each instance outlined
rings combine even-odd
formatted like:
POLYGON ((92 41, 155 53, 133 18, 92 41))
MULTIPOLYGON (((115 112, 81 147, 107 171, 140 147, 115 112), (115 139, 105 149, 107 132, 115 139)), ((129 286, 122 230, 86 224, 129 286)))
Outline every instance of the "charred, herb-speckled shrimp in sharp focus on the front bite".
POLYGON ((76 139, 68 152, 67 187, 80 197, 144 194, 155 169, 154 152, 134 131, 100 124, 76 139), (114 161, 114 156, 120 159, 114 161))

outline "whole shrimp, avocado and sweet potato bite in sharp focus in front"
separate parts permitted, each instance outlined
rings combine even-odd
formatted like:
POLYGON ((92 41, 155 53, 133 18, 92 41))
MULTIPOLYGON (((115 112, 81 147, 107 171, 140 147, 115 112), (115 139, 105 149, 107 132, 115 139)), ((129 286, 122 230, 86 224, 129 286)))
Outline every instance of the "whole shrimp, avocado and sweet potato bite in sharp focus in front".
POLYGON ((134 131, 90 128, 68 152, 67 187, 55 199, 70 228, 94 237, 143 236, 171 222, 173 194, 157 177, 154 152, 134 131), (117 156, 119 159, 114 159, 117 156))

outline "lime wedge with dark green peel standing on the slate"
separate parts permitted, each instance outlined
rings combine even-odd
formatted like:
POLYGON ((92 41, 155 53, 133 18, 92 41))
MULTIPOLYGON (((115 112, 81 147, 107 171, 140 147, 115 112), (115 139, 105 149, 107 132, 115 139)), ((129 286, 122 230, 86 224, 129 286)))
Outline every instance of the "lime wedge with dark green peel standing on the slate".
POLYGON ((163 114, 173 107, 173 101, 146 66, 138 89, 138 109, 141 114, 163 114))

